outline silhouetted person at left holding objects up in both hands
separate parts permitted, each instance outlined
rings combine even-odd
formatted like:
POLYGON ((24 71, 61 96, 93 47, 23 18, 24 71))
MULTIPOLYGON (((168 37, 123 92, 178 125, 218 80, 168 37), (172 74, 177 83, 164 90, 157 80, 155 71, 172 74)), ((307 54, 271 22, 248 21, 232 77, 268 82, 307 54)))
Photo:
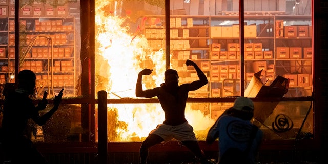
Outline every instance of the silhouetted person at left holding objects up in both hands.
POLYGON ((53 108, 40 116, 39 111, 46 108, 47 100, 41 100, 35 106, 33 100, 29 98, 34 94, 35 80, 36 76, 33 71, 20 71, 17 89, 9 92, 5 97, 2 144, 10 161, 7 163, 48 163, 27 137, 30 134, 25 134, 25 131, 29 119, 39 126, 44 125, 58 109, 63 93, 55 96, 53 108))

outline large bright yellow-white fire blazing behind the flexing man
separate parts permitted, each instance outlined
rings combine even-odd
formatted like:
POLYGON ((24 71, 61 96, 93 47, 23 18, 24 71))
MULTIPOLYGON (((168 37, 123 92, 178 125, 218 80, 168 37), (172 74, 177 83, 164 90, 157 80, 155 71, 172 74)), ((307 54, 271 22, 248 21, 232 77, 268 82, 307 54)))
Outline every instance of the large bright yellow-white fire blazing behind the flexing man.
MULTIPOLYGON (((136 98, 136 79, 142 69, 154 70, 150 76, 144 77, 144 89, 151 89, 163 83, 165 51, 151 50, 141 32, 144 22, 134 32, 130 32, 130 27, 125 25, 129 17, 116 15, 119 5, 115 3, 95 1, 95 50, 96 55, 102 59, 101 62, 97 61, 96 74, 108 77, 108 84, 104 89, 108 98, 136 98)), ((109 113, 114 112, 114 115, 117 115, 117 122, 111 125, 114 126, 116 134, 111 133, 115 137, 109 137, 109 141, 141 141, 164 119, 160 104, 109 104, 108 110, 109 113)), ((214 120, 204 116, 201 111, 191 110, 189 105, 186 108, 186 117, 200 139, 204 138, 204 132, 214 123, 214 120), (198 122, 202 124, 197 124, 198 122)))

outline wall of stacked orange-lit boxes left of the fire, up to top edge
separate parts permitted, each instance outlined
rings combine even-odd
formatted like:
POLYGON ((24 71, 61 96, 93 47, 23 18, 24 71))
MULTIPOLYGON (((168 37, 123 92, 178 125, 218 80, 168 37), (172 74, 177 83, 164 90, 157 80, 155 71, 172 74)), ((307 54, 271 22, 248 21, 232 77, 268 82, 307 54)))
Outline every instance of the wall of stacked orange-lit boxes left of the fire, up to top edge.
MULTIPOLYGON (((0 0, 0 86, 15 69, 15 8, 13 0, 0 0)), ((39 96, 66 88, 65 96, 75 95, 76 55, 75 18, 69 3, 61 0, 20 1, 20 70, 30 69, 37 75, 39 96), (29 45, 33 46, 29 49, 29 45), (53 59, 53 60, 51 60, 53 59), (50 74, 50 76, 49 76, 50 74), (49 88, 48 88, 49 87, 49 88)))

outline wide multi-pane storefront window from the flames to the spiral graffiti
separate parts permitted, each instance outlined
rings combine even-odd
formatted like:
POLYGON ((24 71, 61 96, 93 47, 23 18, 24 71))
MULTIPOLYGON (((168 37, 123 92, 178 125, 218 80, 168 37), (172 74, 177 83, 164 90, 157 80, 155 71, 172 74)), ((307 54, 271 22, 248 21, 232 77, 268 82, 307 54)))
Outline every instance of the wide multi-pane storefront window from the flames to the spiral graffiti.
MULTIPOLYGON (((188 109, 199 111, 210 123, 231 105, 224 103, 224 98, 311 96, 311 4, 265 2, 243 2, 244 32, 240 37, 239 1, 170 1, 170 10, 158 1, 96 1, 96 92, 107 91, 109 99, 136 98, 137 75, 144 68, 154 70, 144 77, 145 89, 163 83, 167 68, 178 71, 180 84, 190 83, 198 80, 196 71, 185 64, 190 59, 207 75, 209 83, 190 92, 189 97, 209 102, 191 102, 188 109), (165 11, 170 11, 169 18, 165 11), (170 43, 166 42, 167 37, 170 43), (222 103, 211 98, 223 98, 219 100, 222 103)), ((258 113, 253 121, 268 129, 265 139, 295 138, 299 128, 312 134, 313 116, 305 114, 312 109, 310 102, 267 103, 270 108, 262 104, 265 103, 256 102, 258 113), (280 125, 277 130, 275 119, 285 120, 290 127, 280 125), (306 126, 301 126, 304 122, 306 126)), ((156 120, 163 120, 160 106, 142 106, 109 104, 109 111, 117 114, 117 121, 124 122, 126 128, 139 125, 129 120, 138 118, 135 113, 141 110, 154 111, 156 120), (120 114, 121 110, 125 114, 120 114), (122 120, 122 115, 131 118, 122 120)), ((210 123, 200 131, 206 131, 210 123)), ((118 131, 115 133, 125 133, 118 131)), ((138 133, 141 132, 133 133, 134 139, 117 135, 110 140, 142 140, 145 136, 138 133)))

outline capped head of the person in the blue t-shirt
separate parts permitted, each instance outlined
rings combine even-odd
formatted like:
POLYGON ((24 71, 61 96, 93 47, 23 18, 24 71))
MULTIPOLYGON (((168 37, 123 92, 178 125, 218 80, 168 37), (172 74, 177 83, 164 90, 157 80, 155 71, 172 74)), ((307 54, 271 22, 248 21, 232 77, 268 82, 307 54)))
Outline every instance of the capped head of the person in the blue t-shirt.
POLYGON ((253 101, 247 97, 238 97, 232 107, 232 113, 243 120, 251 120, 254 116, 253 101))

